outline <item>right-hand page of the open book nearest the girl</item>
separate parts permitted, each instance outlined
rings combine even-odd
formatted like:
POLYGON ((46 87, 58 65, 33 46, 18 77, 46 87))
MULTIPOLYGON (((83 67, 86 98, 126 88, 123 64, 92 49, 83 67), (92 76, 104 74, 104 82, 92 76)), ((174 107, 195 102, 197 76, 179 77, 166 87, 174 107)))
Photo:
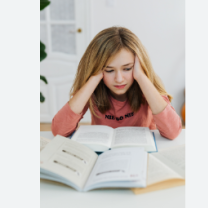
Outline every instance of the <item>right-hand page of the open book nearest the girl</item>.
POLYGON ((114 131, 112 147, 122 145, 155 146, 152 133, 147 127, 119 127, 114 131))

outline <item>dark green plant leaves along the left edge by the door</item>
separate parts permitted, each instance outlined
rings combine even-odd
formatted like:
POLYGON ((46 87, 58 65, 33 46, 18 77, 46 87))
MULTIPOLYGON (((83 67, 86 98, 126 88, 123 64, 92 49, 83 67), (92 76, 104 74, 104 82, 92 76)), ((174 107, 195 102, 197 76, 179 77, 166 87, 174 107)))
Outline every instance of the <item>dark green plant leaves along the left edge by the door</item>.
MULTIPOLYGON (((50 4, 50 1, 48 0, 40 0, 40 11, 42 11, 45 7, 47 7, 50 4)), ((45 52, 45 45, 40 41, 40 61, 45 59, 47 57, 47 53, 45 52)), ((45 84, 48 84, 47 79, 40 75, 40 79, 45 82, 45 84)), ((45 101, 45 97, 40 92, 40 102, 43 103, 45 101)))

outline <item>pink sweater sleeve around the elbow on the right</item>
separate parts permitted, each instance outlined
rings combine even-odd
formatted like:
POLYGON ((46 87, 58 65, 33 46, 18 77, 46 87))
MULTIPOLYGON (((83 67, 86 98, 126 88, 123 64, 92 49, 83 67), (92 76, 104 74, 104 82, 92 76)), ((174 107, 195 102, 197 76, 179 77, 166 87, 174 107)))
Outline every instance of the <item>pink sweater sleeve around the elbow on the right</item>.
POLYGON ((153 114, 153 118, 161 136, 172 140, 175 139, 182 130, 181 119, 171 106, 169 99, 166 96, 162 97, 168 105, 162 112, 156 115, 153 114))

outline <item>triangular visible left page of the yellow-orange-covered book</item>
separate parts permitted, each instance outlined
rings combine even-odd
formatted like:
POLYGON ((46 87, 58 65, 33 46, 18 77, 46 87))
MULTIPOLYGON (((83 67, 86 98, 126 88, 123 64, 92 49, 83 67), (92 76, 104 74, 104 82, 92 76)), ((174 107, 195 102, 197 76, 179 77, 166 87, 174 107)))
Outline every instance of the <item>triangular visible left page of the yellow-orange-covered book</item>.
POLYGON ((147 168, 147 186, 158 183, 171 178, 181 178, 180 175, 168 168, 160 160, 149 154, 148 168, 147 168))

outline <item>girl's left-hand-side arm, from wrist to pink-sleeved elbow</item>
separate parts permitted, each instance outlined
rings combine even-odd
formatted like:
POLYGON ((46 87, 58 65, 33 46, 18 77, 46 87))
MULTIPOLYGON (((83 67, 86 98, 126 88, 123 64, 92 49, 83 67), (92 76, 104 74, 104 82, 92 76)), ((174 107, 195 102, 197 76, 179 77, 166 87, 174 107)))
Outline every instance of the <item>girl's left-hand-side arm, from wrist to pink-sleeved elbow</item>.
POLYGON ((74 132, 88 109, 87 101, 102 78, 102 72, 90 77, 85 85, 58 111, 51 126, 54 136, 59 134, 67 137, 74 132))

